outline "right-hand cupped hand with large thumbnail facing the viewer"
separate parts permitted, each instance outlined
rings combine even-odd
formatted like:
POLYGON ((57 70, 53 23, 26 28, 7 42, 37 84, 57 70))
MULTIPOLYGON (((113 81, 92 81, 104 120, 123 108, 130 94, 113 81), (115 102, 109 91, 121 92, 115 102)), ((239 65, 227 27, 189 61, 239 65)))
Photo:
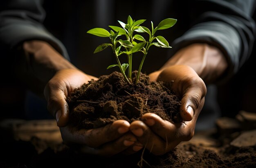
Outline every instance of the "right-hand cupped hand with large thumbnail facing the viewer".
POLYGON ((206 86, 198 74, 189 66, 172 65, 150 74, 151 80, 170 82, 172 90, 181 99, 180 115, 184 123, 171 123, 154 113, 146 113, 130 124, 131 132, 139 142, 155 155, 171 151, 182 141, 193 137, 195 123, 204 105, 206 86))

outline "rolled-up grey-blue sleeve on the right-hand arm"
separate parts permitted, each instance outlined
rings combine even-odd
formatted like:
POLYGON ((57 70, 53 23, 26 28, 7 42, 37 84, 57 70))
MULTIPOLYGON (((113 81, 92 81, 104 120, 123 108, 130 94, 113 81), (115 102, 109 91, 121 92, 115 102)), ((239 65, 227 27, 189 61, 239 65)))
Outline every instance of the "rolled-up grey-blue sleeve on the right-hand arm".
POLYGON ((173 52, 195 42, 204 42, 222 50, 232 76, 249 58, 255 39, 252 19, 255 0, 195 0, 191 9, 198 15, 193 26, 173 41, 173 52), (193 8, 194 7, 194 8, 193 8))

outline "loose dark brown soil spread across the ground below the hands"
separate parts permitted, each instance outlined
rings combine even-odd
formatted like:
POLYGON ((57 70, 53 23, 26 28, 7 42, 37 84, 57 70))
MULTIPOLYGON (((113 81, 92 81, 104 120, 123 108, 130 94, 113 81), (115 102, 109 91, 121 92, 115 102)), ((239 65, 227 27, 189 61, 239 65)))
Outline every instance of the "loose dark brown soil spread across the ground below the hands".
MULTIPOLYGON (((227 138, 227 137, 226 137, 227 138)), ((230 138, 230 137, 229 137, 230 138)), ((229 139, 231 140, 231 139, 229 139)), ((0 140, 2 141, 2 140, 0 140)), ((31 141, 1 143, 1 168, 101 167, 101 168, 255 168, 256 145, 236 147, 216 132, 196 133, 173 151, 155 156, 148 151, 133 155, 97 157, 77 154, 60 143, 31 137, 31 141), (45 148, 47 147, 47 148, 45 148), (38 153, 40 148, 43 152, 38 153)))

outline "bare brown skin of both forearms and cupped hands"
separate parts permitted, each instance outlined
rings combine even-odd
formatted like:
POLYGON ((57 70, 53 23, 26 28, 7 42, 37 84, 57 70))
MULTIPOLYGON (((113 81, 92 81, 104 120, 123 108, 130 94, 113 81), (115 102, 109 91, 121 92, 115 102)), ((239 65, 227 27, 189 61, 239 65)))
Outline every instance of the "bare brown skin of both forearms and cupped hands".
POLYGON ((181 141, 190 140, 204 104, 205 82, 217 80, 227 68, 225 57, 218 48, 192 44, 177 52, 160 70, 150 74, 152 81, 174 81, 170 89, 182 98, 180 114, 185 123, 172 124, 153 113, 146 113, 141 120, 131 124, 117 120, 98 129, 76 130, 68 124, 69 111, 65 100, 75 88, 97 78, 78 70, 47 42, 26 41, 23 50, 25 59, 30 55, 35 60, 27 65, 39 67, 32 68, 30 73, 36 74, 34 76, 45 86, 43 93, 47 108, 56 118, 63 142, 78 152, 102 156, 128 155, 144 146, 153 154, 162 155, 181 141))

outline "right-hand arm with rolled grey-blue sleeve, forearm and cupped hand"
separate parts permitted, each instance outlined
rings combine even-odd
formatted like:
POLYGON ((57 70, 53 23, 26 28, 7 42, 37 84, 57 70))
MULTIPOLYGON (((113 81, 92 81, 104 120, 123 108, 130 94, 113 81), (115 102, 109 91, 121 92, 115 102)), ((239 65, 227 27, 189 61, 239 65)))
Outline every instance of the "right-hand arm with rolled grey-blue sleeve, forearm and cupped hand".
POLYGON ((171 89, 181 97, 180 115, 185 121, 172 124, 147 113, 142 121, 131 124, 130 130, 155 155, 162 155, 193 137, 204 105, 205 83, 229 79, 249 57, 255 34, 251 18, 255 3, 247 2, 197 1, 195 6, 203 10, 209 7, 211 12, 197 16, 197 23, 174 41, 172 57, 160 70, 150 74, 151 80, 173 81, 171 89))

